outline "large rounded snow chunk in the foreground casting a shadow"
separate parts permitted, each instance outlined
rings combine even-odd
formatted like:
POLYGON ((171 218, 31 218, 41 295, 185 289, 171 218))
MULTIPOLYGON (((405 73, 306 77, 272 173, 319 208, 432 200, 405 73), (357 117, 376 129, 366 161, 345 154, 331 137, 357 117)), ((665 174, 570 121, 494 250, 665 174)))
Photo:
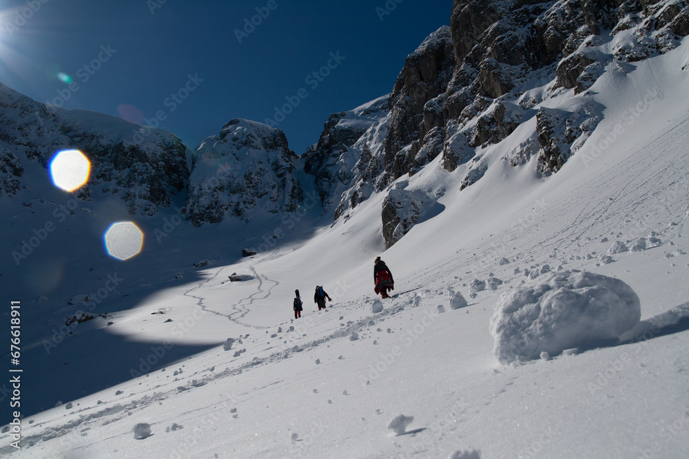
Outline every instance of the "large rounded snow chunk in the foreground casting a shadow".
POLYGON ((490 332, 503 365, 560 354, 587 343, 619 339, 641 319, 639 297, 619 279, 579 270, 542 275, 505 292, 490 332))

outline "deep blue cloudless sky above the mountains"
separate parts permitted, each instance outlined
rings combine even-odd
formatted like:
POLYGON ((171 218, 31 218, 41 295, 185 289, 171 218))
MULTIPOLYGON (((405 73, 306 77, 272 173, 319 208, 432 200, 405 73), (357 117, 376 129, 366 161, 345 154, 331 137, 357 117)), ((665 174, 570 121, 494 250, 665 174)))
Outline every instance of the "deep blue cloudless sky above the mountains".
POLYGON ((2 1, 0 82, 40 102, 69 95, 70 109, 134 120, 162 111, 161 127, 192 148, 232 118, 274 118, 303 89, 278 125, 301 154, 329 114, 391 92, 407 54, 449 24, 451 0, 397 1, 2 1), (240 43, 235 30, 256 8, 269 14, 240 43), (328 63, 329 75, 307 81, 328 63), (189 75, 203 81, 187 96, 189 75))

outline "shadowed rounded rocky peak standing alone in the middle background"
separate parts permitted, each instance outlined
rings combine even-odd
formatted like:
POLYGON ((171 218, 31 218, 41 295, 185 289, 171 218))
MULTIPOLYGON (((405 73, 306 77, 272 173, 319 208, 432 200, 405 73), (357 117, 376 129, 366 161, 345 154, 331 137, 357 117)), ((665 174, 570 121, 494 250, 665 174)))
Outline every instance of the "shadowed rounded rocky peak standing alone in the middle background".
POLYGON ((194 226, 254 211, 291 212, 302 200, 295 157, 280 129, 235 119, 206 138, 192 156, 185 209, 194 226))

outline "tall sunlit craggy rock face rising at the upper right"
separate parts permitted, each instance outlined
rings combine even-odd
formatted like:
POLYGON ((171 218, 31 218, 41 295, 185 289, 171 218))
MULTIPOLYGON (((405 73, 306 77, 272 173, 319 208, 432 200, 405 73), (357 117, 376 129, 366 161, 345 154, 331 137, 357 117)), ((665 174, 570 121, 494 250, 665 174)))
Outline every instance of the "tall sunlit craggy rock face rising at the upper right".
MULTIPOLYGON (((360 153, 348 158, 349 164, 361 170, 373 161, 378 173, 353 173, 341 194, 323 189, 324 202, 339 194, 335 217, 347 215, 362 190, 365 196, 382 191, 438 157, 444 169, 461 174, 460 189, 471 186, 489 167, 484 152, 533 118, 531 137, 503 159, 515 167, 533 164, 544 175, 556 173, 602 118, 604 107, 587 98, 588 89, 604 72, 627 72, 626 63, 677 47, 689 33, 688 5, 687 0, 455 0, 450 27, 431 34, 407 57, 389 114, 348 140, 360 153), (548 102, 568 90, 573 97, 566 105, 548 102)), ((310 154, 315 161, 325 152, 310 154)), ((331 163, 340 160, 336 151, 328 154, 331 163)), ((401 218, 390 209, 384 228, 401 218)))

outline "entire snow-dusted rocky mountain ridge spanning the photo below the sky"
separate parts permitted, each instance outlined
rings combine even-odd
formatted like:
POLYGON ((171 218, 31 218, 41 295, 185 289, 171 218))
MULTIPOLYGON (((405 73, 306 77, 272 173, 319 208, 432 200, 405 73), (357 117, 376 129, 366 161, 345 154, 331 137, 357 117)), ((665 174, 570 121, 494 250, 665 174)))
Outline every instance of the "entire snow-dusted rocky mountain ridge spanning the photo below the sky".
MULTIPOLYGON (((605 107, 588 91, 599 76, 632 72, 633 63, 674 49, 687 34, 686 0, 455 0, 450 25, 407 56, 391 93, 332 114, 302 155, 322 213, 347 218, 372 193, 436 158, 460 177, 460 189, 471 186, 493 162, 491 147, 517 129, 520 138, 500 159, 557 173, 603 117, 605 107)), ((99 186, 121 196, 130 213, 154 215, 182 195, 182 213, 200 226, 290 213, 303 199, 298 156, 280 129, 236 118, 192 153, 165 131, 152 129, 142 142, 119 118, 52 114, 0 89, 0 195, 21 191, 28 161, 45 167, 56 149, 79 148, 94 173, 76 196, 89 200, 99 186)), ((388 246, 416 218, 393 209, 418 211, 443 194, 405 186, 395 187, 404 204, 390 197, 382 212, 388 246)))

